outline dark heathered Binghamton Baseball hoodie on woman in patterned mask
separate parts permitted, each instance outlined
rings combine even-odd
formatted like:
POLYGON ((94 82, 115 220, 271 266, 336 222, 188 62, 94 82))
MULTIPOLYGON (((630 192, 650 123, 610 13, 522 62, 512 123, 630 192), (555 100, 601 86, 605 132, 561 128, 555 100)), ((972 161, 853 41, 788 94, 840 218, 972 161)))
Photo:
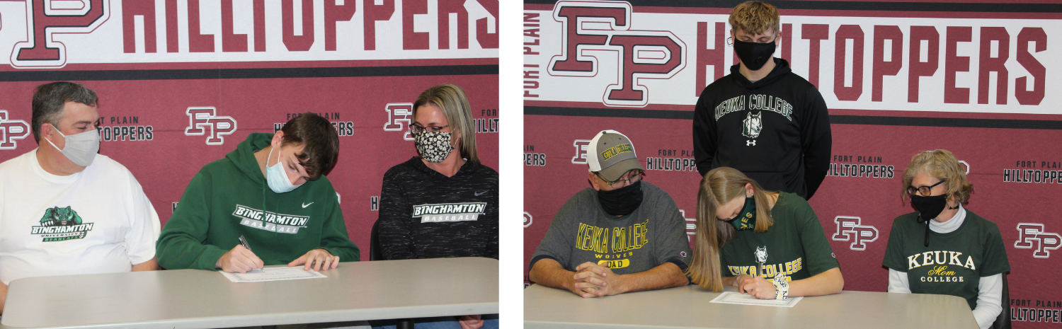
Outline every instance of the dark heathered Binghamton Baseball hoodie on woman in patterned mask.
POLYGON ((467 161, 447 177, 415 156, 383 174, 377 222, 386 260, 498 259, 498 172, 467 161))

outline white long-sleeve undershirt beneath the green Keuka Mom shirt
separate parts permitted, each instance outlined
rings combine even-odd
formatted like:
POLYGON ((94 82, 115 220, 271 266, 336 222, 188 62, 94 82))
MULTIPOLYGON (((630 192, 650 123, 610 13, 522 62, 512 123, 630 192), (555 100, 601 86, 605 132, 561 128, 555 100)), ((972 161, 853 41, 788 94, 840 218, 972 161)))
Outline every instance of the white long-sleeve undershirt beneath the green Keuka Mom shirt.
MULTIPOLYGON (((929 222, 929 229, 938 233, 955 231, 966 219, 966 209, 959 206, 959 211, 952 220, 944 223, 929 222)), ((889 269, 889 292, 911 293, 911 284, 907 281, 907 273, 889 269)), ((974 308, 974 318, 981 329, 992 327, 992 323, 1003 311, 1003 274, 981 277, 977 282, 977 307, 974 308)))

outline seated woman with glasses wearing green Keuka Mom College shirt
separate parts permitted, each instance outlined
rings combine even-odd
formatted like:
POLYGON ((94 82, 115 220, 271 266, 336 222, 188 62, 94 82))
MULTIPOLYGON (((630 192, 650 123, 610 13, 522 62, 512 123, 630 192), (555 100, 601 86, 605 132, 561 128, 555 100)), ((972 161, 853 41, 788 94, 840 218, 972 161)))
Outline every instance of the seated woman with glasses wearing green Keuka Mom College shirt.
POLYGON ((890 293, 966 299, 977 325, 1003 311, 1003 273, 1010 271, 999 227, 962 207, 974 186, 950 152, 921 152, 904 170, 901 197, 918 211, 892 223, 883 264, 890 293))

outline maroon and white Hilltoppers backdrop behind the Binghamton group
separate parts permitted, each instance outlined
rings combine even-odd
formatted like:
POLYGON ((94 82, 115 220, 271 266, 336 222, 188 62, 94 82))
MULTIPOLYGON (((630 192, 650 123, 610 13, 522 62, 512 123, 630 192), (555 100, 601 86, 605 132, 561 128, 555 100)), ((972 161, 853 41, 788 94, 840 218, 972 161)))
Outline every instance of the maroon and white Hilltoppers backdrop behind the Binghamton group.
POLYGON ((100 153, 133 172, 164 225, 204 164, 251 133, 272 134, 312 111, 339 133, 328 179, 369 260, 383 173, 416 155, 411 103, 444 83, 467 93, 480 159, 498 168, 496 0, 58 7, 66 2, 0 1, 0 49, 11 51, 0 56, 0 161, 37 148, 34 87, 84 84, 100 99, 100 153))

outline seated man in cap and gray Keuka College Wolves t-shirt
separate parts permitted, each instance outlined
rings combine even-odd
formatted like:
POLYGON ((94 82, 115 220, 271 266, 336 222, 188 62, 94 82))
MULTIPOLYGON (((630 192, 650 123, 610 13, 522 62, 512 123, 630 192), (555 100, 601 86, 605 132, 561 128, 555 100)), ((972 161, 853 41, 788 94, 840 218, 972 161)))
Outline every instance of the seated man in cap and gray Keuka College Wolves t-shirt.
POLYGON ((531 281, 582 297, 688 284, 685 219, 667 192, 641 181, 633 143, 602 131, 587 155, 592 188, 553 217, 531 258, 531 281))

